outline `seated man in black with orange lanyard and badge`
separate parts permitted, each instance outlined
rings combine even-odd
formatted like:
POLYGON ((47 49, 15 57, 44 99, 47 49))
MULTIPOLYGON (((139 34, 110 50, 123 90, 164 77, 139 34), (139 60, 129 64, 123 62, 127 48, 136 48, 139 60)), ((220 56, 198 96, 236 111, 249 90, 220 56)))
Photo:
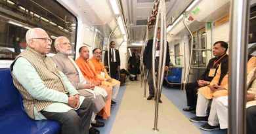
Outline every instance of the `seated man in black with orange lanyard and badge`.
POLYGON ((207 68, 205 69, 203 75, 200 76, 199 80, 197 80, 196 82, 188 83, 185 86, 188 107, 184 108, 184 111, 195 112, 196 100, 198 98, 198 88, 201 88, 202 86, 207 86, 211 82, 211 80, 213 80, 213 77, 216 75, 217 69, 220 64, 221 77, 219 79, 219 83, 221 83, 221 80, 228 72, 228 55, 226 54, 227 50, 228 44, 224 41, 217 41, 213 44, 213 56, 215 56, 215 58, 209 60, 207 68))

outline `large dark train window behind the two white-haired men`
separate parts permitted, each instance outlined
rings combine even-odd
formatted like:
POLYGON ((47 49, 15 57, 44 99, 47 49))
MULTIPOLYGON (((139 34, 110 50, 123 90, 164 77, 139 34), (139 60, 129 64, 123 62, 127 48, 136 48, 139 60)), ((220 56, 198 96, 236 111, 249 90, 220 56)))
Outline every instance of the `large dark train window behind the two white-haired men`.
MULTIPOLYGON (((26 31, 32 27, 45 29, 53 44, 58 36, 75 44, 77 18, 57 1, 1 0, 0 6, 0 59, 14 59, 26 49, 26 31)), ((52 46, 51 54, 55 53, 52 46)))

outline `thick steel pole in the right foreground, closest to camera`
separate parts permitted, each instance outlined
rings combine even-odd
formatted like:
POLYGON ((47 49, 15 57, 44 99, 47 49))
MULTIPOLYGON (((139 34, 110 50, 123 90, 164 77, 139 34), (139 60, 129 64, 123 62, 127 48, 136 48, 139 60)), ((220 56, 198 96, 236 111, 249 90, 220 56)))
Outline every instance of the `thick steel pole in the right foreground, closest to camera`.
POLYGON ((230 33, 228 58, 228 133, 246 133, 246 59, 249 25, 249 1, 230 3, 230 33))

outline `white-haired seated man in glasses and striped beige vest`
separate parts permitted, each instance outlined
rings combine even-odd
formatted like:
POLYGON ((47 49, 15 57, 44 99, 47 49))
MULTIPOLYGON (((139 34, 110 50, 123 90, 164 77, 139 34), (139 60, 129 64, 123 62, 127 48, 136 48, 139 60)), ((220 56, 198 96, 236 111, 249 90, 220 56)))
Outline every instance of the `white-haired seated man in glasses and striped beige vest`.
POLYGON ((62 134, 89 133, 92 101, 79 96, 68 78, 46 56, 52 40, 41 28, 26 33, 27 47, 11 65, 13 82, 23 97, 23 106, 33 120, 55 120, 62 134), (80 108, 80 109, 79 109, 80 108), (75 112, 79 109, 78 112, 75 112))

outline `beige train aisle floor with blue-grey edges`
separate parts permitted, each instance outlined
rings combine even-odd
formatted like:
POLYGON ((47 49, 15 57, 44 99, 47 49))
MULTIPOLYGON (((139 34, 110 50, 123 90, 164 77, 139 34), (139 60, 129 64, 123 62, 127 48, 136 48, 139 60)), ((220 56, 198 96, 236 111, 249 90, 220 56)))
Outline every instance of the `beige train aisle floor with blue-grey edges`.
MULTIPOLYGON (((147 85, 148 88, 148 85, 147 85)), ((146 91, 146 97, 148 90, 146 91)), ((186 93, 180 89, 163 87, 161 95, 163 103, 159 105, 158 129, 154 131, 155 101, 144 98, 144 86, 140 81, 128 81, 119 89, 117 105, 111 109, 111 116, 104 122, 104 127, 98 127, 101 134, 224 134, 226 131, 203 131, 199 128, 203 123, 193 123, 188 120, 195 116, 182 111, 186 107, 186 93)))

